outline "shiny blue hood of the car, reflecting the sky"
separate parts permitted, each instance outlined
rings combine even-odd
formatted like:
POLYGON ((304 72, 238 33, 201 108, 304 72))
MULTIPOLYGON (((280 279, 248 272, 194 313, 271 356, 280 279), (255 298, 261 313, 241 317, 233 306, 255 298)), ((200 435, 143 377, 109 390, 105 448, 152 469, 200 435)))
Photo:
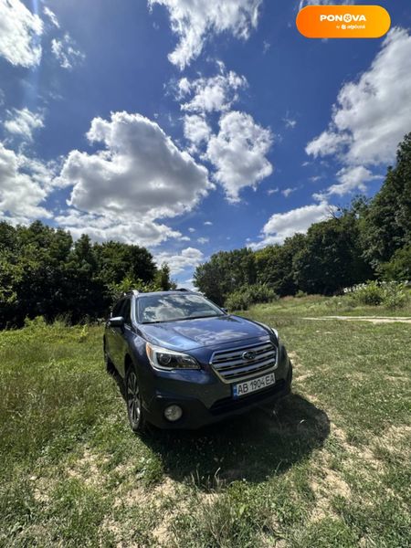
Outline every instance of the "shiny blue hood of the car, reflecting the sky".
POLYGON ((231 315, 146 323, 139 327, 147 341, 183 351, 269 335, 258 323, 231 315))

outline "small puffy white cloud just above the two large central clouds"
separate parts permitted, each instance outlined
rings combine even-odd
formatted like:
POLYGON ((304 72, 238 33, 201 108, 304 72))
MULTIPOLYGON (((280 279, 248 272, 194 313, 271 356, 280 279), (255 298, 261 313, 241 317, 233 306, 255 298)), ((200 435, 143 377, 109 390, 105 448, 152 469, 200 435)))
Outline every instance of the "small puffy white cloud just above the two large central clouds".
POLYGON ((230 70, 226 72, 220 63, 221 74, 212 78, 181 79, 178 83, 178 99, 187 98, 181 105, 183 111, 205 113, 228 111, 238 99, 237 91, 248 86, 244 76, 230 70))

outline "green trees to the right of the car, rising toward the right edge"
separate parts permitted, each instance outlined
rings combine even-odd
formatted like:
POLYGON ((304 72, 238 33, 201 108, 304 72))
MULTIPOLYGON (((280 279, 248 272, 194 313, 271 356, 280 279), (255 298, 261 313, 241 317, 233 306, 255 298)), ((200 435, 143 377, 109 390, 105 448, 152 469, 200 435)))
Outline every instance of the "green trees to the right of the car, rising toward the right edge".
POLYGON ((282 245, 220 251, 197 267, 194 279, 220 305, 249 288, 332 295, 370 279, 411 280, 411 133, 373 199, 357 196, 282 245))

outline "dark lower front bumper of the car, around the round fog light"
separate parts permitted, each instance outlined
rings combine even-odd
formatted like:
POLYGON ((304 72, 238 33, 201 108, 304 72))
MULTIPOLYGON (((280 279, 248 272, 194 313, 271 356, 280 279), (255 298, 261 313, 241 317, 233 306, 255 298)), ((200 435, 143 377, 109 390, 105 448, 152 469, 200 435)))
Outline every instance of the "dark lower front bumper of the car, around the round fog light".
MULTIPOLYGON (((199 397, 192 395, 171 394, 157 390, 148 406, 144 405, 147 420, 155 427, 166 429, 195 429, 210 425, 218 421, 237 416, 247 412, 256 406, 267 406, 274 404, 280 398, 289 395, 292 381, 292 366, 285 353, 286 363, 279 368, 284 375, 276 378, 276 384, 250 395, 233 398, 226 395, 217 399, 211 406, 206 406, 199 397), (164 418, 164 409, 171 405, 180 406, 183 409, 183 416, 170 422, 164 418)), ((278 371, 276 371, 277 377, 278 371)), ((226 385, 226 388, 227 385, 226 385)), ((231 387, 229 387, 231 391, 231 387)))

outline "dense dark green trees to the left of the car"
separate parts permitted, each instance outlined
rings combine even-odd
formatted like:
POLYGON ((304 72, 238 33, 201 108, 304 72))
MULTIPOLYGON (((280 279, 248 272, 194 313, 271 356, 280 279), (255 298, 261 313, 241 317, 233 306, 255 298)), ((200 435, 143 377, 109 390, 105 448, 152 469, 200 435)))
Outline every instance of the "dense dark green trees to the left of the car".
POLYGON ((61 228, 36 221, 28 227, 0 222, 0 327, 26 318, 64 316, 78 322, 106 317, 124 290, 174 287, 166 264, 160 269, 140 246, 109 241, 73 241, 61 228))

